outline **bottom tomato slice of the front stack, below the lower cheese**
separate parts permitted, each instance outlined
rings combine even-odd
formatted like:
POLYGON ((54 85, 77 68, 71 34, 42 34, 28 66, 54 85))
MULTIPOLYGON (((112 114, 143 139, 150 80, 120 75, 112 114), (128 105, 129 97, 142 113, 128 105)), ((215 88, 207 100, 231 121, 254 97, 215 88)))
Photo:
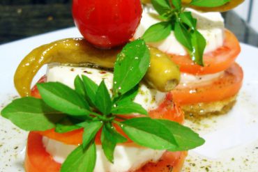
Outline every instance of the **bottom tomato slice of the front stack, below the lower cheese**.
MULTIPOLYGON (((43 136, 30 132, 26 148, 25 171, 26 172, 59 172, 61 164, 54 161, 45 151, 42 142, 43 136)), ((166 152, 157 163, 149 162, 135 172, 179 172, 183 166, 186 152, 166 152)), ((131 171, 133 172, 133 171, 131 171)))

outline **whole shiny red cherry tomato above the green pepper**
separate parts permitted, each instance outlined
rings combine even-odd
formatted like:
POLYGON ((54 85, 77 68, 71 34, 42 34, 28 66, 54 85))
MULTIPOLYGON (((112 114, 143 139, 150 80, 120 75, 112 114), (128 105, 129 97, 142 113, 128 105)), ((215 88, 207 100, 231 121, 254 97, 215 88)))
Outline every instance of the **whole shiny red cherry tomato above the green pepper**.
POLYGON ((82 36, 96 47, 123 45, 142 17, 139 0, 74 0, 73 19, 82 36))

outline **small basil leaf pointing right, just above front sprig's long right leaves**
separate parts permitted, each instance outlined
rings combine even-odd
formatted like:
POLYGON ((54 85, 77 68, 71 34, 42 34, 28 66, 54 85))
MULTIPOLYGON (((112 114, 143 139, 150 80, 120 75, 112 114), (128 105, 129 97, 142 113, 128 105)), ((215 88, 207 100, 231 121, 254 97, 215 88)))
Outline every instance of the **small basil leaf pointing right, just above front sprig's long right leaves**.
POLYGON ((123 101, 123 102, 118 102, 116 105, 112 107, 112 114, 132 114, 132 113, 137 113, 137 114, 142 114, 142 115, 148 115, 148 112, 146 109, 142 107, 141 104, 137 104, 135 102, 130 102, 130 101, 123 101))

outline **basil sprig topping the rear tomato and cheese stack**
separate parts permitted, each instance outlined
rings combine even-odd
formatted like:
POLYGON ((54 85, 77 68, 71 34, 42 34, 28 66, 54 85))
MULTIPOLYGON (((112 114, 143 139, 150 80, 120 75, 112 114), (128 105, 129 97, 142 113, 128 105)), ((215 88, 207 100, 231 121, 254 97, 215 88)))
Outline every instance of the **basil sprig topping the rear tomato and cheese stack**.
MULTIPOLYGON (((191 6, 217 7, 230 0, 192 0, 191 6)), ((142 36, 146 42, 158 42, 169 36, 174 31, 178 40, 187 49, 192 61, 204 66, 203 55, 206 40, 197 31, 197 19, 192 17, 191 12, 185 11, 181 0, 151 0, 153 7, 162 18, 162 22, 153 24, 142 36)))

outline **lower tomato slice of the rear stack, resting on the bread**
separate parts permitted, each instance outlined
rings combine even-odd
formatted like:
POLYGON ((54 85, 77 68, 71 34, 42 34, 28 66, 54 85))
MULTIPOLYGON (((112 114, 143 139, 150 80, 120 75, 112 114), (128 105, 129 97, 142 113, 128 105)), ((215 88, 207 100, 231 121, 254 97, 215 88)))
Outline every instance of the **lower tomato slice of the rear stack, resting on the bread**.
POLYGON ((172 95, 181 105, 215 102, 236 95, 242 86, 242 81, 243 70, 237 63, 233 63, 219 79, 202 86, 197 84, 187 87, 177 86, 172 95))

